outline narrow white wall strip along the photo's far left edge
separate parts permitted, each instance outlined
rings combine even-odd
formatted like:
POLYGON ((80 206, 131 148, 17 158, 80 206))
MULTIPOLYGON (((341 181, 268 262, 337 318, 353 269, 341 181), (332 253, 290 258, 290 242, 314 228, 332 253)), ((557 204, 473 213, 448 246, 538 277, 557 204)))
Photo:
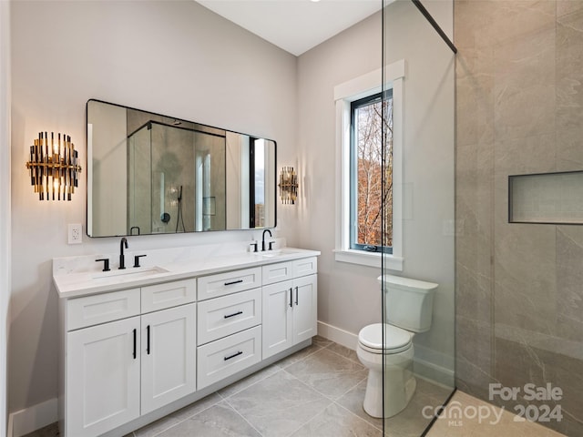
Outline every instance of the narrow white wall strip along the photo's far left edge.
POLYGON ((0 435, 6 431, 6 348, 10 330, 10 3, 0 2, 0 435))

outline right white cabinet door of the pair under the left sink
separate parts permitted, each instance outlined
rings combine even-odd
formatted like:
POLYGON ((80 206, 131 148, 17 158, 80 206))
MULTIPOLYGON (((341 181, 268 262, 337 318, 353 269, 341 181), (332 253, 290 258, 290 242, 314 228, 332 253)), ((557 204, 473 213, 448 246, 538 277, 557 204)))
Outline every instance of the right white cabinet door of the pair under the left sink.
POLYGON ((142 316, 142 414, 196 390, 196 304, 142 316))

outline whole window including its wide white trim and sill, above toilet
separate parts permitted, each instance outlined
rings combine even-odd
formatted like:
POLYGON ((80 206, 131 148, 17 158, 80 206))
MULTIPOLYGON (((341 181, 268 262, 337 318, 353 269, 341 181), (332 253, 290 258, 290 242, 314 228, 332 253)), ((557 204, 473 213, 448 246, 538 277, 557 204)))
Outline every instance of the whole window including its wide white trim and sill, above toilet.
POLYGON ((403 270, 404 59, 334 86, 336 106, 336 244, 334 259, 403 270), (383 127, 379 112, 387 112, 383 127), (379 157, 380 155, 380 157, 379 157), (385 165, 382 166, 382 159, 385 165), (385 168, 383 174, 381 169, 385 168), (385 209, 380 208, 385 190, 385 209), (386 239, 381 240, 384 226, 386 239), (383 259, 381 254, 384 253, 383 259))

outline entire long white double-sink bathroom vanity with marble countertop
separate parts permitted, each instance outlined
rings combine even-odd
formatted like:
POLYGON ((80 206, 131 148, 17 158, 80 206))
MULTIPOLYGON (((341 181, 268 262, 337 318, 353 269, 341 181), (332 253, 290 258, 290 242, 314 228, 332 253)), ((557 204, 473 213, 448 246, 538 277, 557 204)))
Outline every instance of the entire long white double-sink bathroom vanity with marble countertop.
POLYGON ((311 344, 320 252, 199 249, 54 259, 65 437, 125 435, 311 344))

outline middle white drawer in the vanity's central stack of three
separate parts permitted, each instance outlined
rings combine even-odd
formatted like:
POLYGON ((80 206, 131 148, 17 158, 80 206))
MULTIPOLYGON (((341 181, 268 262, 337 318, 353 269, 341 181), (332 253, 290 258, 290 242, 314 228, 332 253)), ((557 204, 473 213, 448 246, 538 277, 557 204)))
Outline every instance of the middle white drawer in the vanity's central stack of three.
POLYGON ((221 337, 261 324, 261 289, 199 302, 198 343, 204 344, 221 337))

